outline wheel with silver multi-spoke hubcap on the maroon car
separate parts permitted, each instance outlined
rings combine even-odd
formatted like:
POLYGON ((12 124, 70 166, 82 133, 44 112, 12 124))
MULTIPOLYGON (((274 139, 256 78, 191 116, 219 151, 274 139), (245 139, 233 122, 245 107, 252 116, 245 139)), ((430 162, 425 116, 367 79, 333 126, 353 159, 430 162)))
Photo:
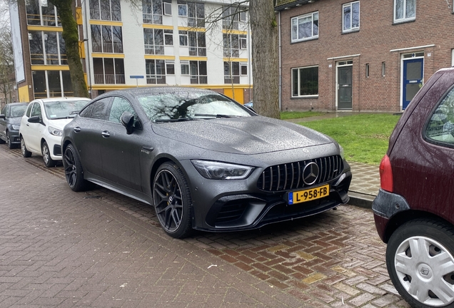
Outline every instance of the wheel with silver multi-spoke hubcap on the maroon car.
POLYGON ((412 307, 454 307, 454 228, 437 220, 398 227, 386 265, 399 294, 412 307))

